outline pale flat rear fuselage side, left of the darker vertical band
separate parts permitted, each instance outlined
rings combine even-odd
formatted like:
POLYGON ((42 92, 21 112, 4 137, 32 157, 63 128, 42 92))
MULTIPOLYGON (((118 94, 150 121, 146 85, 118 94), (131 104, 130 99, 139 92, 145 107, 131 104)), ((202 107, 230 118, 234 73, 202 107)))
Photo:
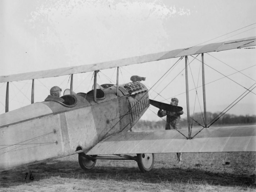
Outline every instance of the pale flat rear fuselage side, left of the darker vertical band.
POLYGON ((43 116, 2 127, 0 170, 60 156, 63 149, 59 130, 59 115, 43 116))

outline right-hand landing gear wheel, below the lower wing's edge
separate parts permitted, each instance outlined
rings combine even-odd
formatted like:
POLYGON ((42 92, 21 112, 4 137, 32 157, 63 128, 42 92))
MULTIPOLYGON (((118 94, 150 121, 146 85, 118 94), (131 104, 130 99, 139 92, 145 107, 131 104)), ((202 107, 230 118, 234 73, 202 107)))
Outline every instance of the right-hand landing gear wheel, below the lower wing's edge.
POLYGON ((153 153, 137 154, 137 163, 142 173, 149 172, 154 165, 153 153))

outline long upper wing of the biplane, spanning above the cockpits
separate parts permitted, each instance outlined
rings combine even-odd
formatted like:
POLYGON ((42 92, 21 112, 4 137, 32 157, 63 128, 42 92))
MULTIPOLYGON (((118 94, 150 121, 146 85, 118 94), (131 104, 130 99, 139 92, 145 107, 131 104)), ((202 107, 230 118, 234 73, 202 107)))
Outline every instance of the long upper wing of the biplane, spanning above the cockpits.
POLYGON ((90 71, 97 71, 102 69, 110 69, 115 67, 134 65, 137 63, 169 59, 169 58, 181 57, 185 55, 194 55, 194 54, 213 52, 213 51, 224 51, 229 49, 239 49, 239 48, 250 47, 255 45, 256 45, 256 36, 253 36, 253 37, 247 37, 243 39, 217 42, 214 44, 208 44, 204 46, 195 46, 187 49, 176 49, 173 51, 153 53, 153 54, 124 58, 124 59, 119 59, 114 61, 99 62, 91 65, 81 65, 76 67, 67 67, 67 68, 59 68, 59 69, 53 69, 53 70, 0 76, 0 82, 40 79, 40 78, 58 77, 63 75, 76 74, 76 73, 86 73, 90 71))

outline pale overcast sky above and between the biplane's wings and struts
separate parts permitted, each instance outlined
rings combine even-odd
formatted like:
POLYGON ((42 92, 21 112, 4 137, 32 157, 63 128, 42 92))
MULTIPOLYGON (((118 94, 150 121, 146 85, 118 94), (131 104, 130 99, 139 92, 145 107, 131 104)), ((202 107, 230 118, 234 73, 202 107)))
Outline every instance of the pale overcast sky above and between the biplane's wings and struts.
MULTIPOLYGON (((2 0, 0 75, 87 65, 188 48, 220 36, 206 44, 256 36, 255 7, 256 1, 2 0)), ((200 55, 197 58, 201 60, 200 55)), ((188 59, 191 62, 193 57, 188 59)), ((146 77, 143 83, 151 88, 177 60, 123 67, 120 82, 129 82, 131 75, 139 75, 146 77)), ((190 64, 190 89, 202 84, 199 60, 195 59, 190 64)), ((229 76, 233 81, 227 78, 215 81, 223 75, 206 66, 206 83, 215 81, 206 86, 207 110, 224 110, 246 91, 245 88, 255 83, 255 61, 256 49, 205 54, 205 63, 224 75, 251 67, 244 70, 244 74, 229 76)), ((185 92, 184 66, 183 59, 153 88, 161 92, 160 96, 155 98, 153 91, 150 96, 158 101, 167 99, 164 102, 170 102, 170 98, 176 96, 186 113, 186 97, 181 94, 185 92)), ((99 75, 99 84, 110 82, 105 75, 112 78, 112 82, 116 81, 114 69, 102 70, 99 75)), ((74 75, 75 92, 88 92, 92 83, 92 73, 74 75)), ((44 100, 52 86, 69 88, 69 77, 35 80, 35 101, 44 100)), ((0 113, 4 113, 5 93, 6 83, 0 83, 0 113)), ((198 88, 199 98, 196 98, 195 90, 189 94, 190 114, 194 106, 195 112, 200 112, 200 105, 203 109, 202 88, 198 88)), ((29 104, 30 98, 31 80, 10 84, 10 110, 29 104)), ((255 114, 255 106, 256 95, 249 93, 230 113, 252 115, 255 114)), ((153 112, 156 113, 157 109, 151 107, 143 118, 158 120, 153 112)))

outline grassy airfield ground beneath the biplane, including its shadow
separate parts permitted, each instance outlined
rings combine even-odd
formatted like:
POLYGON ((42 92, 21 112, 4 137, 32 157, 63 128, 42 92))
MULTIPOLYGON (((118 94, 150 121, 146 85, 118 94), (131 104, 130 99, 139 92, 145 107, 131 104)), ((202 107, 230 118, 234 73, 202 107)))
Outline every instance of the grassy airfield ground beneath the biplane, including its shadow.
POLYGON ((119 160, 84 172, 74 155, 1 172, 0 191, 256 191, 255 160, 250 152, 184 153, 182 163, 155 154, 153 170, 142 174, 135 161, 119 160))

